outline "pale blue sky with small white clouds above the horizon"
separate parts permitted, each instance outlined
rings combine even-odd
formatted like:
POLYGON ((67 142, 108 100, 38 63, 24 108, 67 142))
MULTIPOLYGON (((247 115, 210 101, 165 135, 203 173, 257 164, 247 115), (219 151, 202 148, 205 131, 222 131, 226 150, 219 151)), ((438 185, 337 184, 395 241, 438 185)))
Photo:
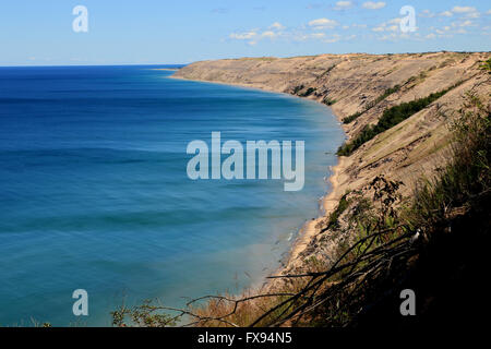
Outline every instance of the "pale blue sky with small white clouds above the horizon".
POLYGON ((0 65, 152 64, 344 52, 491 50, 489 1, 11 0, 0 65), (88 10, 75 33, 72 10, 88 10), (402 33, 403 5, 416 31, 402 33))

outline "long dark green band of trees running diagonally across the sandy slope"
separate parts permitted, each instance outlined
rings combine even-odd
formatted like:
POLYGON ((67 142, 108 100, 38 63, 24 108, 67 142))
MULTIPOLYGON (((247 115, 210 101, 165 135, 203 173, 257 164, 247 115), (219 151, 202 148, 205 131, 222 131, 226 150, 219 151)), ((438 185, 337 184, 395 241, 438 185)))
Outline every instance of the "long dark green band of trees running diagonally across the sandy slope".
POLYGON ((362 144, 375 137, 378 134, 395 127, 396 124, 403 122, 410 116, 417 113, 418 111, 424 109, 430 104, 445 95, 448 91, 456 87, 456 85, 451 86, 446 89, 433 93, 424 98, 419 98, 416 100, 411 100, 409 103, 403 103, 398 106, 394 106, 392 108, 385 109, 382 117, 379 119, 379 122, 375 125, 367 125, 360 132, 360 134, 349 143, 345 143, 342 145, 337 155, 339 156, 349 156, 356 149, 358 149, 362 144))

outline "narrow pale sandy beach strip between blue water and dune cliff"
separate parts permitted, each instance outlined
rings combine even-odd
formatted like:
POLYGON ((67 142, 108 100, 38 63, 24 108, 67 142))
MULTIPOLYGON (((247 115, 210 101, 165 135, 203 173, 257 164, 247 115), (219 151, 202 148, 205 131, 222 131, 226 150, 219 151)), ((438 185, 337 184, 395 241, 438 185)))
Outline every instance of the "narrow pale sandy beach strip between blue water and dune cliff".
MULTIPOLYGON (((176 79, 176 80, 183 80, 183 81, 194 81, 194 82, 202 82, 202 83, 208 83, 208 84, 219 84, 219 85, 227 85, 227 86, 237 86, 237 87, 246 87, 251 89, 258 89, 261 92, 270 92, 275 94, 284 94, 290 97, 297 97, 301 99, 309 99, 311 101, 318 103, 323 105, 326 108, 330 108, 333 116, 336 118, 337 121, 340 122, 340 118, 334 112, 333 108, 330 106, 326 106, 325 104, 310 98, 304 98, 296 95, 291 95, 285 92, 278 92, 274 89, 266 89, 265 87, 260 86, 251 86, 248 84, 240 84, 240 83, 224 83, 224 82, 214 82, 214 81, 206 81, 206 80, 194 80, 194 79, 185 79, 185 77, 179 77, 179 76, 166 76, 167 79, 176 79)), ((343 123, 339 124, 339 128, 342 131, 346 134, 345 128, 343 128, 343 123)), ((320 213, 318 216, 313 219, 306 219, 303 225, 298 228, 296 239, 290 243, 290 246, 288 248, 288 251, 286 251, 286 257, 285 263, 282 263, 279 267, 275 269, 274 273, 270 274, 272 275, 282 275, 288 269, 291 269, 292 267, 299 266, 301 263, 299 261, 300 254, 306 250, 306 248, 309 245, 309 243, 313 240, 314 237, 316 237, 320 233, 320 229, 316 228, 318 224, 328 216, 334 209, 336 209, 338 201, 343 194, 339 194, 342 192, 342 186, 339 177, 347 168, 347 158, 346 157, 339 157, 337 156, 337 164, 332 167, 332 174, 330 176, 330 183, 331 189, 326 191, 320 198, 319 203, 319 210, 320 213), (339 196, 339 197, 338 197, 339 196)), ((266 288, 271 286, 274 279, 266 279, 265 285, 266 288)))

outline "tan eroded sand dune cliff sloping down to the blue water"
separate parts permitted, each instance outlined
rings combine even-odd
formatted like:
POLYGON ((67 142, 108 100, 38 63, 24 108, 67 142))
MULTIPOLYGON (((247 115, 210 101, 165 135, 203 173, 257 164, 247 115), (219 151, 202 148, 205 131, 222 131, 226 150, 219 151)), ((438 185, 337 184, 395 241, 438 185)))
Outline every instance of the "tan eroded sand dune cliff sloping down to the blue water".
POLYGON ((325 215, 306 225, 286 272, 321 253, 316 249, 320 231, 348 190, 364 188, 374 177, 384 174, 403 181, 403 194, 409 196, 418 179, 431 176, 445 161, 448 119, 460 108, 466 93, 490 103, 490 74, 480 69, 490 57, 488 52, 435 52, 243 58, 196 62, 179 70, 175 77, 258 87, 330 105, 334 101, 331 107, 339 120, 362 112, 355 121, 343 124, 349 139, 366 125, 376 123, 386 108, 457 85, 349 157, 339 158, 331 178, 333 191, 323 201, 325 215))

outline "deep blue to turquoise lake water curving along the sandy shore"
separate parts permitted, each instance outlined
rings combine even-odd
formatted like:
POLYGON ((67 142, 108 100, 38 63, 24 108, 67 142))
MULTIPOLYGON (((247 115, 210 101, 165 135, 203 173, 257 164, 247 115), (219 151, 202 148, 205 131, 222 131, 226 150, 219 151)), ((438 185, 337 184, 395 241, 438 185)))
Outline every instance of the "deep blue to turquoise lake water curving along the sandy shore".
POLYGON ((123 299, 233 292, 316 216, 344 137, 327 108, 151 68, 0 68, 1 325, 105 326, 123 299), (212 131, 306 141, 303 190, 191 181, 187 145, 212 131), (89 316, 72 314, 79 288, 89 316))

